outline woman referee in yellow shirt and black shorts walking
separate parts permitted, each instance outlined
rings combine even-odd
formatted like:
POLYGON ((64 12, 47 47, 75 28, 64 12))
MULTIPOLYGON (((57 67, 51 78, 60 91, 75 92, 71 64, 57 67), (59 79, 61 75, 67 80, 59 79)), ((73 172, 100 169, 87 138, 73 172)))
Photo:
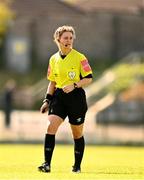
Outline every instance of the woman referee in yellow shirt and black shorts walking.
POLYGON ((75 162, 72 172, 81 172, 84 153, 83 126, 87 103, 82 87, 92 81, 92 70, 86 57, 73 49, 75 31, 72 26, 56 29, 54 41, 59 51, 49 61, 47 78, 50 81, 40 111, 48 111, 49 125, 45 135, 45 162, 38 167, 42 172, 51 171, 51 158, 55 146, 55 134, 68 116, 74 139, 75 162))

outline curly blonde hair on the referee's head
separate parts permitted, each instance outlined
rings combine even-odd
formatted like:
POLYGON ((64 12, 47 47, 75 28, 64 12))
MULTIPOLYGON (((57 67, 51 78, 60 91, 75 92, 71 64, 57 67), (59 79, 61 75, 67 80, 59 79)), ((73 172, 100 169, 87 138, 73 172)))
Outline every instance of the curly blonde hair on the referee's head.
POLYGON ((76 38, 75 30, 72 26, 60 26, 54 32, 54 41, 57 43, 64 32, 71 32, 74 39, 76 38))

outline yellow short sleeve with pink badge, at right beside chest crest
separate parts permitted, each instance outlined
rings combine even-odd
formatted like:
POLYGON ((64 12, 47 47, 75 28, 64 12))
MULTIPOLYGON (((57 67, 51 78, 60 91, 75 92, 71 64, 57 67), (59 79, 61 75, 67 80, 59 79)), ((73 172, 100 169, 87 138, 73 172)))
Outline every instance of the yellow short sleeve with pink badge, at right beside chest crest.
POLYGON ((82 77, 92 74, 92 69, 89 65, 87 58, 84 55, 82 55, 82 57, 81 57, 80 66, 81 66, 82 77))

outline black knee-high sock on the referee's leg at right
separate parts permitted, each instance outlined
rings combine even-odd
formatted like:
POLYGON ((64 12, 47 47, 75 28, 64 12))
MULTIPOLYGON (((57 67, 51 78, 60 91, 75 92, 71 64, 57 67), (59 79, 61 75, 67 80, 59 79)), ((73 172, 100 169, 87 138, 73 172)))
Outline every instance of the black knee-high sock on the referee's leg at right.
POLYGON ((74 139, 74 155, 75 155, 75 167, 80 167, 81 161, 83 158, 84 148, 85 148, 85 141, 84 137, 82 136, 79 139, 74 139))

